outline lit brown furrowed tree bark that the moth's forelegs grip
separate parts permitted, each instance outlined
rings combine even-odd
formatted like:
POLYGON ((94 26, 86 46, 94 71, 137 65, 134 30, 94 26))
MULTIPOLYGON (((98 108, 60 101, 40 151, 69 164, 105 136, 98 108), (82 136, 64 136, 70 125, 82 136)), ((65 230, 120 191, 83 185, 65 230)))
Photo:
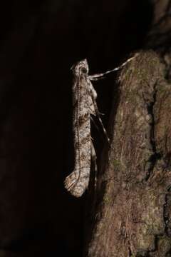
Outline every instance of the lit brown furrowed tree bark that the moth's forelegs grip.
POLYGON ((164 78, 153 51, 120 74, 88 256, 171 256, 171 86, 164 78))

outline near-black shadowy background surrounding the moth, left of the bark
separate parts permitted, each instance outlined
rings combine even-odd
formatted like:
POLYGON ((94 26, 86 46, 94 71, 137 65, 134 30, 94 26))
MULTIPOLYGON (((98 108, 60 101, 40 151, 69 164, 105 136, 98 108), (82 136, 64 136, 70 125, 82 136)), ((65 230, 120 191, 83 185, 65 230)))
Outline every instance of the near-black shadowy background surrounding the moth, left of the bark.
MULTIPOLYGON (((4 1, 0 9, 0 256, 81 256, 86 194, 72 171, 71 66, 107 71, 143 46, 149 1, 4 1)), ((110 81, 96 83, 108 124, 110 81)), ((100 153, 103 140, 95 136, 100 153)), ((99 155, 99 154, 98 154, 99 155)))

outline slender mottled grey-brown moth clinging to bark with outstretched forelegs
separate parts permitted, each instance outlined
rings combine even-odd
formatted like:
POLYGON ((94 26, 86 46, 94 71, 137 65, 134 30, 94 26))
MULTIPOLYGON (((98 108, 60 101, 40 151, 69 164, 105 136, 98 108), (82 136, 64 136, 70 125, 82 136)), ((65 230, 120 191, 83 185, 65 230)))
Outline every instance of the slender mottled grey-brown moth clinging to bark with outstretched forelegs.
POLYGON ((88 62, 86 59, 79 61, 72 66, 73 71, 73 143, 75 152, 75 164, 73 172, 66 177, 64 181, 65 188, 73 196, 81 197, 88 188, 90 180, 90 161, 93 160, 96 169, 96 154, 93 141, 90 136, 90 119, 96 116, 102 126, 103 133, 110 141, 100 119, 100 113, 97 106, 97 93, 91 84, 91 81, 103 78, 105 74, 121 69, 128 61, 121 66, 106 71, 105 73, 88 75, 88 62))

